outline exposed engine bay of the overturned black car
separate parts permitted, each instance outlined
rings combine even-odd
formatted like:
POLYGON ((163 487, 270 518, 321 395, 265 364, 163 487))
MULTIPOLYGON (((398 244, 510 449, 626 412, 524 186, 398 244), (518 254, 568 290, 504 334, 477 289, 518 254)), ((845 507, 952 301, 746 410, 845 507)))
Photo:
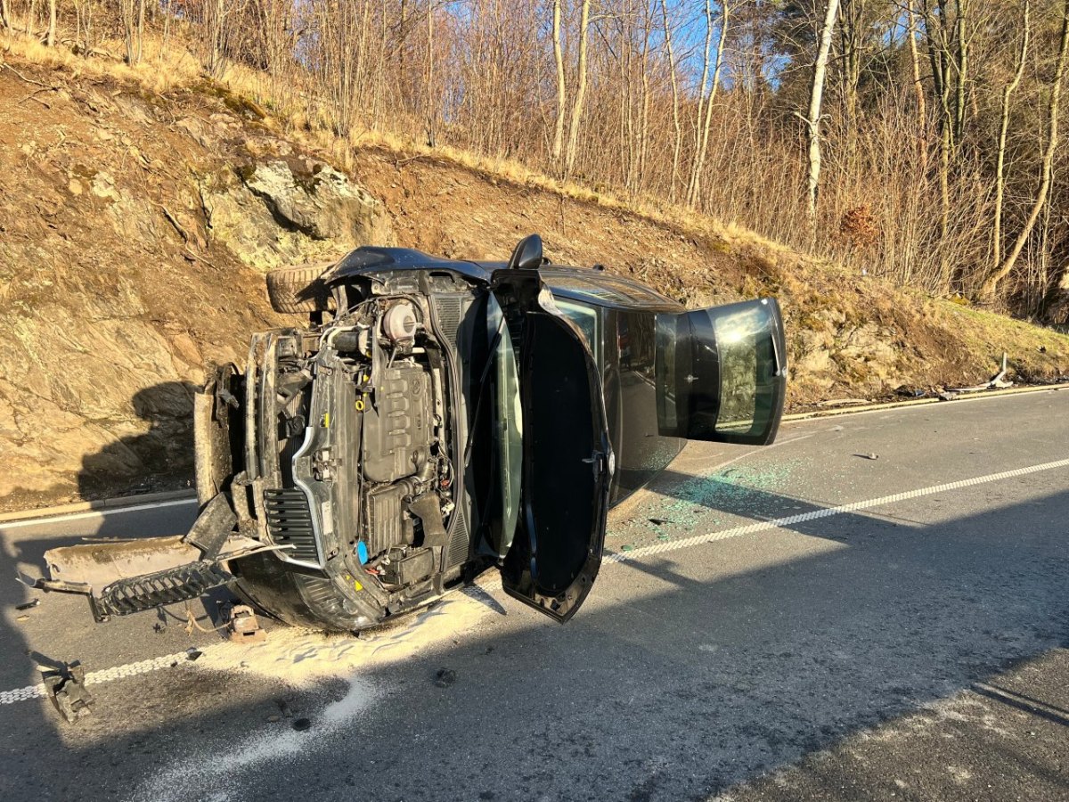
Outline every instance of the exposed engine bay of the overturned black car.
POLYGON ((262 375, 273 344, 279 441, 260 449, 279 454, 278 475, 268 465, 263 475, 280 556, 322 568, 345 550, 387 588, 430 576, 448 543, 455 474, 446 356, 425 303, 373 297, 314 339, 268 339, 262 375), (293 502, 308 504, 304 528, 293 502), (316 533, 322 545, 309 549, 316 533))

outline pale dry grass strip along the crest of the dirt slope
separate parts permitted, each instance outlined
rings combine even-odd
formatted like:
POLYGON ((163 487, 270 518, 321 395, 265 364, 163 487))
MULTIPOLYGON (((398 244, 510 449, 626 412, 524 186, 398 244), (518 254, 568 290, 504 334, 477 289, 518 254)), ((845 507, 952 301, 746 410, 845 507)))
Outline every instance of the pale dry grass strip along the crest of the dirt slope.
MULTIPOLYGON (((73 77, 106 76, 156 93, 203 86, 204 78, 197 58, 180 40, 172 38, 165 48, 158 37, 146 36, 144 60, 135 67, 122 62, 121 47, 119 41, 105 43, 102 46, 105 56, 83 59, 62 48, 44 47, 25 36, 0 35, 0 50, 4 53, 62 70, 73 77)), ((443 161, 477 172, 493 182, 528 187, 622 215, 637 216, 666 226, 687 238, 704 241, 722 252, 738 255, 754 268, 750 272, 755 274, 747 277, 747 281, 753 279, 753 286, 742 288, 743 294, 774 293, 785 297, 789 307, 793 307, 788 311, 795 334, 826 326, 821 319, 823 310, 839 310, 847 319, 843 325, 856 326, 868 320, 889 320, 897 309, 899 314, 913 322, 914 328, 931 324, 942 331, 952 333, 963 352, 987 355, 1009 351, 1019 372, 1026 377, 1064 373, 1069 363, 1069 338, 1051 329, 930 299, 923 292, 894 288, 889 282, 871 276, 864 279, 867 289, 862 290, 859 271, 855 266, 802 253, 737 223, 721 222, 664 199, 623 197, 595 190, 579 182, 546 175, 514 159, 479 155, 448 145, 432 148, 387 130, 357 129, 347 137, 339 137, 332 133, 314 103, 308 103, 305 99, 307 96, 299 91, 293 92, 295 103, 268 105, 268 77, 241 65, 229 67, 220 83, 236 98, 267 106, 269 117, 264 122, 272 128, 285 132, 295 142, 348 170, 353 169, 357 154, 369 149, 396 155, 399 159, 443 161), (853 294, 846 291, 851 287, 856 290, 853 294), (881 303, 886 309, 876 308, 881 303)), ((919 335, 914 330, 908 337, 916 339, 919 335)), ((973 370, 977 368, 974 361, 973 370)))

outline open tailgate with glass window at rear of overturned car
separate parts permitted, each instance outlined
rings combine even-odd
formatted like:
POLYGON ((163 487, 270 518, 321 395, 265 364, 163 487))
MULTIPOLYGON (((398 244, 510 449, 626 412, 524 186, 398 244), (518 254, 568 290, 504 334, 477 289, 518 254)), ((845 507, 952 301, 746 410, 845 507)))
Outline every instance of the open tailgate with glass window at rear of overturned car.
POLYGON ((787 350, 774 298, 656 321, 657 425, 690 439, 768 445, 787 390, 787 350))

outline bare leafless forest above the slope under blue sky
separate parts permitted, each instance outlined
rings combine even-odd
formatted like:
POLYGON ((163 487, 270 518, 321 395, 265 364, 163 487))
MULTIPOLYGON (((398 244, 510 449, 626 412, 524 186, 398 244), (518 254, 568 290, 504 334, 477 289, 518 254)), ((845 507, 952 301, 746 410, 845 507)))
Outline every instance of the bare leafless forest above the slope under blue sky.
POLYGON ((0 27, 131 65, 188 48, 294 127, 513 159, 1069 322, 1069 0, 0 0, 0 27))

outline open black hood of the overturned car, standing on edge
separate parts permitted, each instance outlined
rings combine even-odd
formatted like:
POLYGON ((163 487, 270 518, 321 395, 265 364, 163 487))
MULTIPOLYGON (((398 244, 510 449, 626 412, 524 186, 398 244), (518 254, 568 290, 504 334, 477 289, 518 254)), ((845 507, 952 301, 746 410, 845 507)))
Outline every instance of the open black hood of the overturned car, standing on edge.
POLYGON ((492 289, 518 363, 523 416, 521 509, 501 584, 567 621, 593 586, 605 540, 614 459, 601 379, 538 271, 498 271, 492 289))

